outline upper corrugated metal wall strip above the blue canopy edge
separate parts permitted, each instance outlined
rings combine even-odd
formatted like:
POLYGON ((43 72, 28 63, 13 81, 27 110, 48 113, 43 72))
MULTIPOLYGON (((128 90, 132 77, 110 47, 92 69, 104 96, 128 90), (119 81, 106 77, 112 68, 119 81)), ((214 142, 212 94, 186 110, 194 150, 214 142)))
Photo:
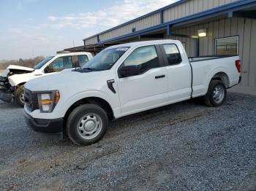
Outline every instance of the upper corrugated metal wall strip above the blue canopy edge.
MULTIPOLYGON (((223 4, 229 4, 233 1, 238 0, 189 0, 183 4, 178 4, 170 9, 164 11, 164 23, 170 20, 176 20, 180 17, 187 15, 192 15, 197 12, 202 12, 206 9, 211 9, 214 7, 221 6, 223 4)), ((125 34, 131 34, 132 28, 136 28, 136 31, 140 31, 144 28, 149 28, 151 26, 157 26, 161 23, 160 12, 144 17, 133 23, 128 23, 126 26, 120 26, 119 28, 114 28, 111 31, 103 32, 99 35, 100 41, 105 41, 107 39, 112 39, 117 36, 122 36, 125 34)), ((91 39, 86 39, 86 44, 95 44, 97 43, 97 37, 92 37, 91 39)))

